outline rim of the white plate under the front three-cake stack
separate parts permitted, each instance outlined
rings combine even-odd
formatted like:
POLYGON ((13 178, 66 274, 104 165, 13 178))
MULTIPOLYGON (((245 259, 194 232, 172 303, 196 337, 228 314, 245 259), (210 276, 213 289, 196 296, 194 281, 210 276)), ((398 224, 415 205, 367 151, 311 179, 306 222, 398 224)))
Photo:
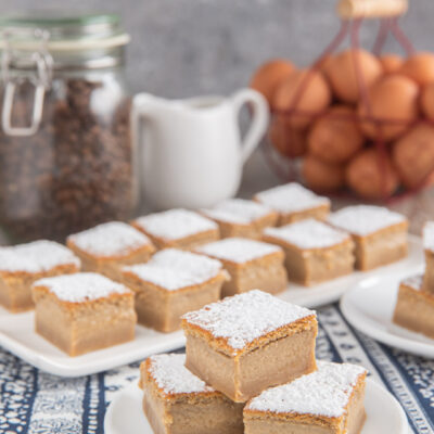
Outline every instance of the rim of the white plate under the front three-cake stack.
MULTIPOLYGON (((391 404, 393 404, 397 417, 399 418, 399 422, 401 425, 401 430, 398 433, 395 434, 408 434, 410 432, 410 424, 408 423, 408 418, 406 412, 404 411, 403 406, 399 404, 398 399, 390 392, 387 391, 386 387, 383 385, 379 384, 379 382, 374 379, 367 378, 367 388, 372 387, 375 394, 380 395, 380 399, 387 398, 391 404)), ((127 387, 124 387, 122 391, 118 391, 112 401, 110 403, 105 414, 104 414, 104 421, 103 421, 103 429, 105 434, 118 434, 117 432, 112 430, 112 425, 110 424, 110 421, 113 420, 113 411, 114 411, 114 406, 116 406, 117 401, 122 399, 123 394, 127 393, 137 393, 140 391, 140 387, 138 385, 138 382, 135 381, 131 384, 129 384, 127 387)), ((143 414, 144 416, 144 414, 143 414)))

